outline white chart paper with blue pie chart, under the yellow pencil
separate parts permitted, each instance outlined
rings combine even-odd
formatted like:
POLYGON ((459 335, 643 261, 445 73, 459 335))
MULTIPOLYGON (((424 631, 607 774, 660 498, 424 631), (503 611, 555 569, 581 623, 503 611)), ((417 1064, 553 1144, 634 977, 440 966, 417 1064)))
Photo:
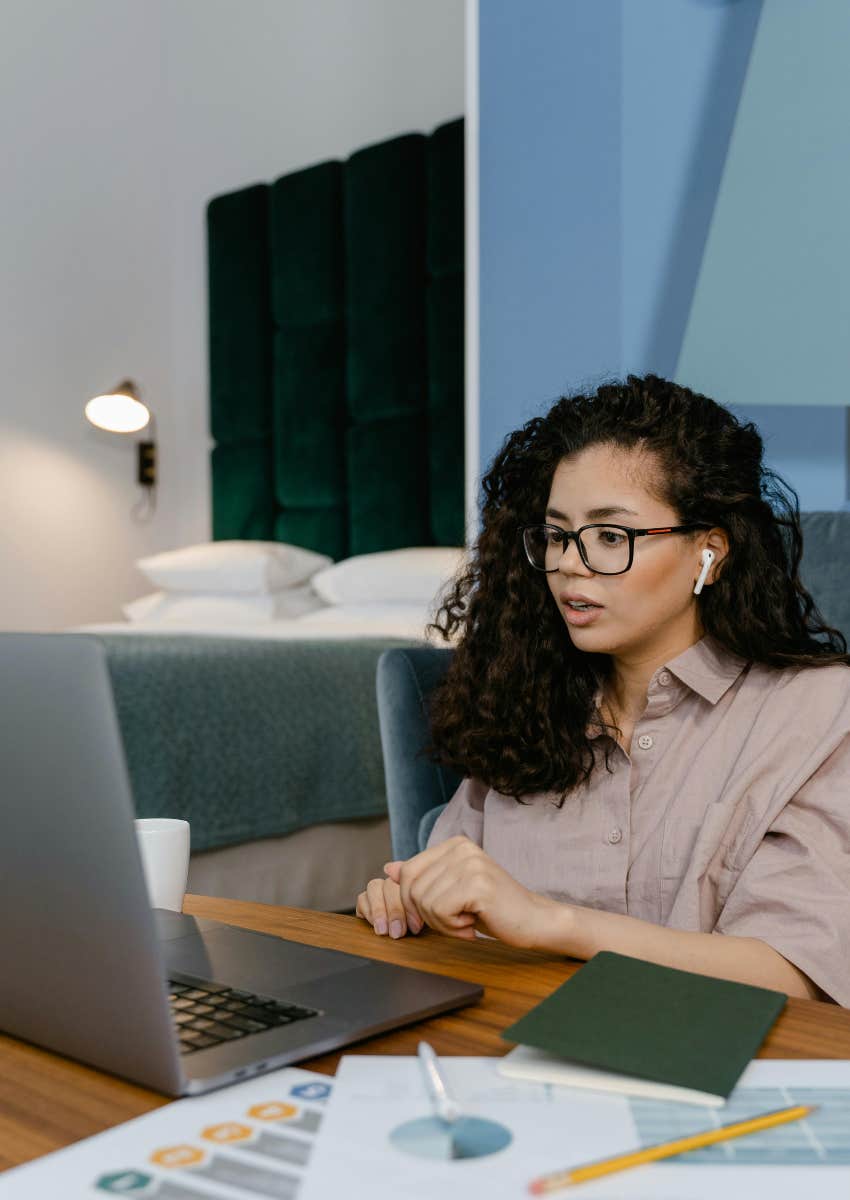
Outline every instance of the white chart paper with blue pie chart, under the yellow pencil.
POLYGON ((804 1121, 563 1194, 576 1200, 850 1196, 850 1062, 753 1062, 720 1108, 508 1080, 497 1062, 441 1058, 463 1112, 510 1134, 507 1142, 491 1139, 491 1146, 501 1147, 495 1152, 453 1159, 427 1157, 439 1147, 417 1135, 430 1105, 415 1058, 343 1057, 299 1200, 520 1200, 540 1175, 792 1104, 820 1109, 804 1121))

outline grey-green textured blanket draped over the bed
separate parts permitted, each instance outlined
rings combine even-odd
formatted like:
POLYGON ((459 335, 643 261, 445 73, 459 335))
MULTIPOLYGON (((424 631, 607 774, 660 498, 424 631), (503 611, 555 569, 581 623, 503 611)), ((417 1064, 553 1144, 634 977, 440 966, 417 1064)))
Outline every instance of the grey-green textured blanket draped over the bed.
POLYGON ((192 850, 387 811, 375 671, 401 640, 96 635, 136 811, 192 850))

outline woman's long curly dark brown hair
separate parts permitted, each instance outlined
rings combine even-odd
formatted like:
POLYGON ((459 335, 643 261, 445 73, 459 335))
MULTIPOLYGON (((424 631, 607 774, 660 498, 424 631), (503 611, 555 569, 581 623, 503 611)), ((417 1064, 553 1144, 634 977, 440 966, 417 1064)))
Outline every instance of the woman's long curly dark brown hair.
POLYGON ((557 792, 563 802, 594 766, 587 730, 601 724, 594 700, 610 659, 575 648, 517 530, 544 520, 561 461, 600 444, 651 451, 680 522, 725 529, 729 553, 698 601, 706 634, 770 666, 850 664, 800 580, 797 497, 764 466, 754 425, 657 376, 563 397, 493 460, 480 536, 431 626, 457 637, 431 698, 431 752, 517 799, 557 792))

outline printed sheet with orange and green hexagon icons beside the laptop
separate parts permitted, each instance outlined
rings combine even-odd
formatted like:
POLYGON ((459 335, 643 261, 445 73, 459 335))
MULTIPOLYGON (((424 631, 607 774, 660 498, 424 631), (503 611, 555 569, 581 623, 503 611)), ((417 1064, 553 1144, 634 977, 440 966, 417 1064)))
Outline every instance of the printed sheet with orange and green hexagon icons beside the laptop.
POLYGON ((1 1200, 300 1200, 334 1081, 287 1067, 0 1175, 1 1200))

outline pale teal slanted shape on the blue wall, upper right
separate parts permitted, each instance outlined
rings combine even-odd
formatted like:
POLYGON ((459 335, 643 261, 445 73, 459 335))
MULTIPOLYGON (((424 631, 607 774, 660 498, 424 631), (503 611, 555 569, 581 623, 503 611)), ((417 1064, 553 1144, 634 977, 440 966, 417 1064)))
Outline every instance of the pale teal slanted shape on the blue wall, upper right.
POLYGON ((677 377, 735 403, 848 403, 850 4, 770 0, 677 377))

